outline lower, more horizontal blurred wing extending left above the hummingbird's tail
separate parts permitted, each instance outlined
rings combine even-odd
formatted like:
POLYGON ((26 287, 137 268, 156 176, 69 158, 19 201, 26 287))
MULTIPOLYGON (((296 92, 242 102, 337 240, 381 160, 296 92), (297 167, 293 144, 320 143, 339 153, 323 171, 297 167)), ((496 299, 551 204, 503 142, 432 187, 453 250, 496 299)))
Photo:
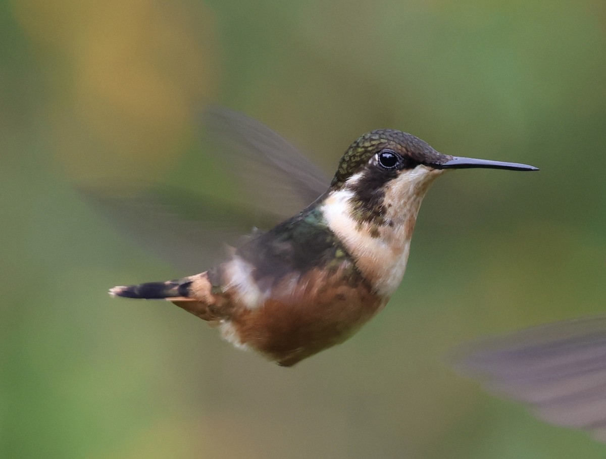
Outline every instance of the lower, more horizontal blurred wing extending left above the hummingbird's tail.
POLYGON ((189 274, 221 262, 227 245, 238 245, 255 226, 276 220, 275 215, 237 203, 168 187, 136 193, 116 188, 79 192, 119 233, 189 274))

